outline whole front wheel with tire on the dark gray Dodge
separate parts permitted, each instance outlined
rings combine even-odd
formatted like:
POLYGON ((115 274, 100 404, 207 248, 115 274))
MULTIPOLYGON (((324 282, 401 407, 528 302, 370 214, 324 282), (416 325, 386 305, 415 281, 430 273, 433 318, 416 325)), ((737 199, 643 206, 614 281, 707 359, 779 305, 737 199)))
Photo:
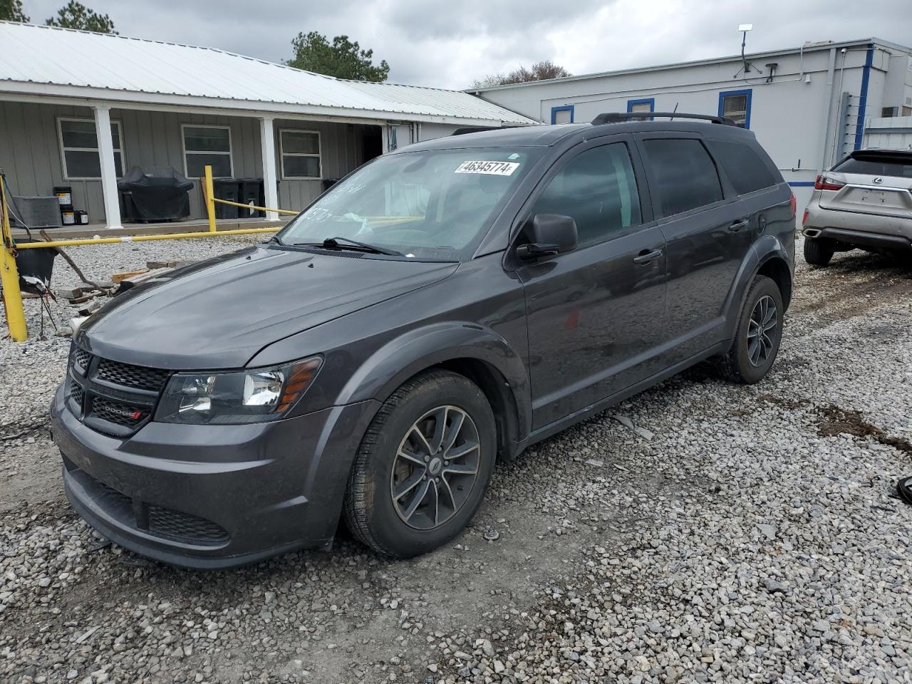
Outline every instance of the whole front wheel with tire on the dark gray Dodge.
POLYGON ((496 430, 491 405, 469 379, 446 370, 411 378, 361 440, 345 500, 352 534, 396 558, 426 554, 460 534, 491 478, 496 430))

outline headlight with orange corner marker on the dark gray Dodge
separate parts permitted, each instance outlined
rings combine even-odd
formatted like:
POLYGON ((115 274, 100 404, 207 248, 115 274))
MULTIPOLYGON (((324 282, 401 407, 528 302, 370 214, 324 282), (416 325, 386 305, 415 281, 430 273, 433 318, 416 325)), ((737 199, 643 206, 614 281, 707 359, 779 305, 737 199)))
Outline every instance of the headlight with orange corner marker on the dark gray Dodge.
POLYGON ((166 423, 224 424, 278 420, 316 378, 323 358, 228 373, 171 376, 155 412, 166 423))

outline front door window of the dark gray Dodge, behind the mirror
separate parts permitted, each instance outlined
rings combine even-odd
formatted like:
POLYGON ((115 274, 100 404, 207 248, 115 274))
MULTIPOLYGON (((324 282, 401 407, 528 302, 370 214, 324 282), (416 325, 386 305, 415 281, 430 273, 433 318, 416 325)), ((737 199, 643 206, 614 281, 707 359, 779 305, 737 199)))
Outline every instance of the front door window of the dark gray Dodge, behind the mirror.
POLYGON ((568 161, 535 202, 534 213, 572 216, 580 245, 642 223, 627 145, 602 145, 568 161))

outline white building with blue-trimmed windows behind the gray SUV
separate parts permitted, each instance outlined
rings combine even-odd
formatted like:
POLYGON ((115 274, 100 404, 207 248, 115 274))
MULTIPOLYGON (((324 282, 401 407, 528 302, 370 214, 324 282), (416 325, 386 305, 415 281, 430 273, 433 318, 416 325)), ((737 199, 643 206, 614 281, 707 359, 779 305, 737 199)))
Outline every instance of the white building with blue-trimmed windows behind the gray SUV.
MULTIPOLYGON (((912 48, 865 38, 494 88, 475 95, 544 123, 606 111, 724 114, 753 130, 799 206, 814 177, 858 149, 872 119, 912 115, 912 48)), ((874 126, 883 126, 874 121, 874 126)), ((875 139, 871 139, 875 140, 875 139)))

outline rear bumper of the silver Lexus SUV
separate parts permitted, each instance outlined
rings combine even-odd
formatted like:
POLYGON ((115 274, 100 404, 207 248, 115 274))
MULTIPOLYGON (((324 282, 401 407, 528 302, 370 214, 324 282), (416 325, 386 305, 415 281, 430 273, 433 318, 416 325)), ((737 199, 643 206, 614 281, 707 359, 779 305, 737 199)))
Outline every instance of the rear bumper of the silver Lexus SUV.
POLYGON ((886 249, 912 247, 912 216, 882 216, 876 213, 824 209, 815 198, 807 205, 805 237, 824 237, 843 244, 886 249))

